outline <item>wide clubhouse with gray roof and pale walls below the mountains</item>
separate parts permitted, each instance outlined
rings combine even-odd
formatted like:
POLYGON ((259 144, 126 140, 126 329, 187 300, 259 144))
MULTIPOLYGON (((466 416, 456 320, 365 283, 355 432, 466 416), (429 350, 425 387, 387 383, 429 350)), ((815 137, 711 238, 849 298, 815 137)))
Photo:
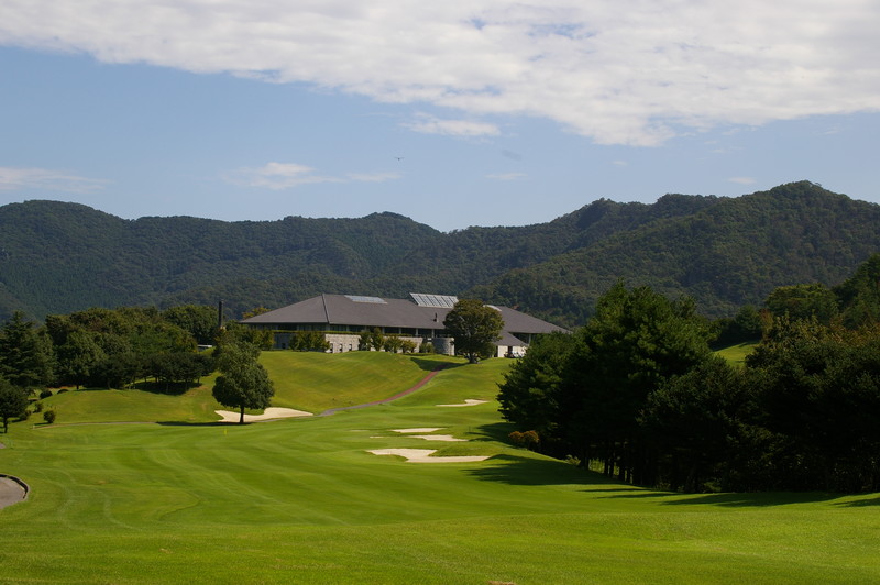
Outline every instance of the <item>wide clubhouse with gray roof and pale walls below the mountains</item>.
MULTIPOLYGON (((458 298, 411 292, 409 299, 354 295, 321 295, 241 321, 248 327, 274 332, 275 347, 285 350, 299 331, 324 335, 331 353, 359 350, 363 331, 377 328, 384 335, 399 335, 417 346, 431 343, 437 353, 454 354, 454 342, 443 330, 443 320, 458 298)), ((495 342, 498 357, 522 355, 535 335, 565 331, 509 307, 495 307, 504 327, 495 342)))

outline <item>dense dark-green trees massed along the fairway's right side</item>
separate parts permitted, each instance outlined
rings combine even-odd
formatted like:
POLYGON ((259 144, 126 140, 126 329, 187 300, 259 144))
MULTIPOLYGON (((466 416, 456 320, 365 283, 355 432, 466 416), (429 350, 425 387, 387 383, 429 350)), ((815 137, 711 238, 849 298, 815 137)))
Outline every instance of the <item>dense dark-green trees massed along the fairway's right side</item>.
POLYGON ((531 448, 639 485, 879 490, 878 283, 880 255, 835 289, 781 287, 740 311, 761 335, 744 367, 710 347, 736 320, 617 283, 584 327, 529 347, 501 412, 531 448))

